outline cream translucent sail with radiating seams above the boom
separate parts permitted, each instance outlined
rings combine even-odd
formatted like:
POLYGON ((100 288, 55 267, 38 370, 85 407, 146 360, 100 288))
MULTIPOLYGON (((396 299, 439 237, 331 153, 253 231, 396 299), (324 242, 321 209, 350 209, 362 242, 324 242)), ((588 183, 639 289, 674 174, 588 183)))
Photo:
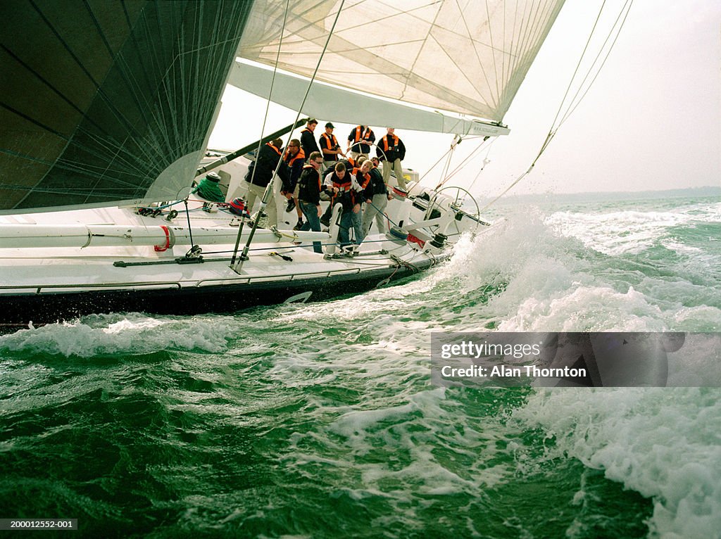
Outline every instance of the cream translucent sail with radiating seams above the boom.
MULTIPOLYGON (((563 0, 345 0, 317 80, 500 121, 563 0)), ((311 76, 340 1, 290 3, 278 68, 311 76)), ((257 0, 239 56, 275 66, 286 2, 257 0)))

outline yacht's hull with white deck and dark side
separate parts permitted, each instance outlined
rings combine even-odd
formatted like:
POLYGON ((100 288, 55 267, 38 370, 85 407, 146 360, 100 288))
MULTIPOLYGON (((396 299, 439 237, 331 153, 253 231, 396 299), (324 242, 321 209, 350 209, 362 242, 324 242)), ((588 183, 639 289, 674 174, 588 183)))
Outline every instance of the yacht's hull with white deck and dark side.
MULTIPOLYGON (((283 221, 295 224, 295 212, 281 211, 280 233, 259 228, 249 259, 237 264, 236 257, 231 267, 238 219, 223 210, 205 212, 198 200, 190 204, 189 230, 184 207, 176 207, 180 211, 170 220, 131 208, 1 216, 2 321, 37 323, 99 311, 232 311, 325 298, 430 267, 448 252, 447 244, 431 246, 434 231, 443 227, 457 238, 477 227, 468 218, 456 220, 452 211, 443 212, 439 225, 439 218, 428 220, 410 200, 393 200, 389 217, 404 220, 420 241, 379 234, 373 226, 355 256, 340 256, 328 254, 337 251, 329 233, 296 233, 283 221), (419 222, 431 224, 413 224, 419 222), (202 262, 186 257, 191 232, 193 244, 203 248, 202 262), (325 256, 314 253, 313 240, 322 241, 325 256), (185 304, 184 296, 197 304, 185 304)), ((244 226, 239 251, 249 230, 244 226)))

